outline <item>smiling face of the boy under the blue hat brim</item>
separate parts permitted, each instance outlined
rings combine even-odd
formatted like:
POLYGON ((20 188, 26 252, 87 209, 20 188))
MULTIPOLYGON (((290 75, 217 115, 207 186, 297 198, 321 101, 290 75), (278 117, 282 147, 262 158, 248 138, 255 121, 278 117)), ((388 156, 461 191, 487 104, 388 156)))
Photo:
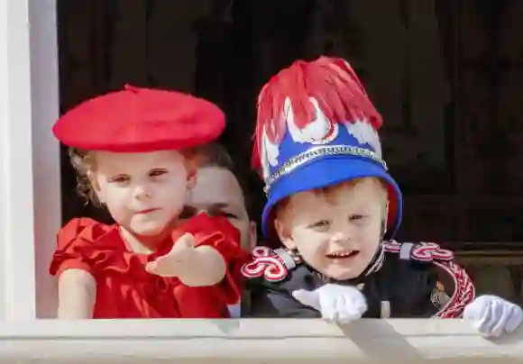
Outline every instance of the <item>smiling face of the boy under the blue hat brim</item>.
POLYGON ((356 278, 378 249, 386 196, 372 178, 301 192, 290 197, 275 227, 280 241, 298 249, 317 271, 338 280, 356 278))

